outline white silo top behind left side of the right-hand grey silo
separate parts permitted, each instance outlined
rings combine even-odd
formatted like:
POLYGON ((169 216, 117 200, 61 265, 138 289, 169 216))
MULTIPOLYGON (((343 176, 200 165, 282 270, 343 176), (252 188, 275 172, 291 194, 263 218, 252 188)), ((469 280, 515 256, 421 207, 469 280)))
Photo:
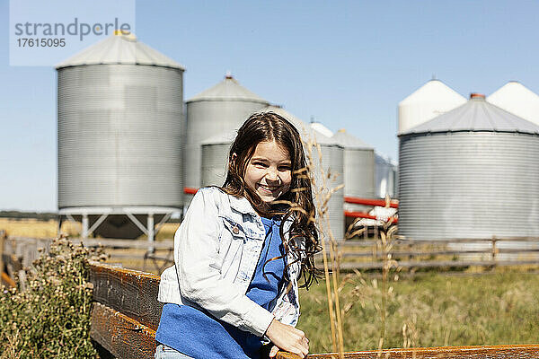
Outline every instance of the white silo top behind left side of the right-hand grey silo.
POLYGON ((433 79, 399 103, 399 134, 455 109, 466 99, 445 83, 433 79))

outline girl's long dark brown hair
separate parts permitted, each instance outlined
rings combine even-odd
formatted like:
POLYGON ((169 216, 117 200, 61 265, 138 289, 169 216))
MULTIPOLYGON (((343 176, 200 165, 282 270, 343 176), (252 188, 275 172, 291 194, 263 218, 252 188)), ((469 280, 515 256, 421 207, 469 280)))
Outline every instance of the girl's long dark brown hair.
MULTIPOLYGON (((311 191, 311 180, 307 173, 305 152, 301 136, 286 118, 275 112, 255 113, 238 130, 228 154, 228 171, 222 189, 229 195, 245 197, 261 215, 282 215, 280 237, 287 252, 292 252, 295 261, 301 260, 302 286, 306 288, 317 278, 314 254, 321 250, 318 232, 314 223, 316 207, 311 191), (247 164, 251 161, 257 144, 275 141, 283 146, 290 157, 292 180, 290 189, 275 203, 266 203, 249 188, 244 180, 247 164), (292 220, 285 241, 283 224, 292 220), (300 244, 301 243, 301 244, 300 244)), ((271 258, 272 260, 274 258, 271 258)), ((290 266, 288 263, 287 266, 290 266)), ((287 272, 287 271, 285 271, 287 272)))

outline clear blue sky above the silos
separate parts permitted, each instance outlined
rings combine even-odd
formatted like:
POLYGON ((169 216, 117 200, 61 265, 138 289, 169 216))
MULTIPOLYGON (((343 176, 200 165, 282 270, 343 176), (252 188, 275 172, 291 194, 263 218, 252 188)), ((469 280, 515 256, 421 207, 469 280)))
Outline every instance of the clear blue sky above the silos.
MULTIPOLYGON (((539 92, 537 13, 537 1, 139 0, 136 34, 186 67, 185 99, 231 71, 396 158, 397 104, 433 74, 466 97, 509 80, 539 92)), ((56 210, 56 72, 9 66, 7 0, 0 23, 0 209, 56 210)))

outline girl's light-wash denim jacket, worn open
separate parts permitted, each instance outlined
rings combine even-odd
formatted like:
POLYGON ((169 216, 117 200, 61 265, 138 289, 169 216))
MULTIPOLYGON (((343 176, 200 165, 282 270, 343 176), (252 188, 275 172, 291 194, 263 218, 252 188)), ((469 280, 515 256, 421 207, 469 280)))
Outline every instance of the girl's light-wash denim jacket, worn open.
MULTIPOLYGON (((291 221, 283 224, 290 241, 291 221)), ((218 188, 200 188, 174 235, 174 266, 161 275, 159 302, 204 309, 218 320, 262 337, 273 318, 296 326, 299 318, 297 280, 301 265, 287 253, 287 285, 278 293, 272 312, 252 302, 245 293, 257 266, 265 229, 260 215, 244 197, 218 188)), ((295 240, 302 248, 301 240, 295 240)))

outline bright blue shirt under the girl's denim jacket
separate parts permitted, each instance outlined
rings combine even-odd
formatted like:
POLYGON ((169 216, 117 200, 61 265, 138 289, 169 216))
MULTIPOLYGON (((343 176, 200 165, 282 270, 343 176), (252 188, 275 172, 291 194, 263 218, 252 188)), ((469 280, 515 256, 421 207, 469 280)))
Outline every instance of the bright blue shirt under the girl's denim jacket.
MULTIPOLYGON (((279 235, 280 221, 262 218, 262 223, 266 238, 246 295, 272 311, 285 282, 286 256, 279 235)), ((208 359, 258 359, 262 344, 261 337, 216 320, 205 311, 172 303, 163 306, 155 340, 194 358, 208 359)))

